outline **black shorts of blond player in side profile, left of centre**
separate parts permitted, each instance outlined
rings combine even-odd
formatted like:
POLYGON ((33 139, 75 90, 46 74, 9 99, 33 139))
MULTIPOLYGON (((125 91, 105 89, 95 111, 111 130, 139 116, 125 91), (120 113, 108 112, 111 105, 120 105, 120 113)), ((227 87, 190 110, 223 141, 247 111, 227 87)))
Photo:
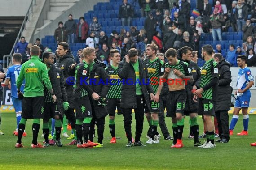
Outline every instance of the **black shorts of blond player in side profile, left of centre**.
POLYGON ((92 107, 88 95, 81 98, 75 98, 73 105, 75 106, 76 119, 93 117, 92 107))

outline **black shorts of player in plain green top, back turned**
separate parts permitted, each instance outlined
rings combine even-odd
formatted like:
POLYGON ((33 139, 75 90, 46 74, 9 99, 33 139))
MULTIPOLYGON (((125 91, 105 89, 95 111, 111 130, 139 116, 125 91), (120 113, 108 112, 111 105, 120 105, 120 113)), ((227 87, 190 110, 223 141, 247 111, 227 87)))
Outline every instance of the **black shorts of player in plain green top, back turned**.
POLYGON ((44 96, 22 98, 22 118, 44 118, 44 96))

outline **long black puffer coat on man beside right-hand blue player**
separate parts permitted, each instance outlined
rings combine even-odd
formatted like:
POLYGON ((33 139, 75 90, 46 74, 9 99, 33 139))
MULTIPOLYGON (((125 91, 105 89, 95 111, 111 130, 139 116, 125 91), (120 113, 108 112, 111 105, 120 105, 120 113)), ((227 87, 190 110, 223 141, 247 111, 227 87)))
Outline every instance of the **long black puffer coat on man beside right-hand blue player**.
POLYGON ((219 85, 218 85, 218 98, 215 105, 215 111, 230 110, 231 105, 231 87, 232 81, 230 63, 223 59, 219 63, 219 85))

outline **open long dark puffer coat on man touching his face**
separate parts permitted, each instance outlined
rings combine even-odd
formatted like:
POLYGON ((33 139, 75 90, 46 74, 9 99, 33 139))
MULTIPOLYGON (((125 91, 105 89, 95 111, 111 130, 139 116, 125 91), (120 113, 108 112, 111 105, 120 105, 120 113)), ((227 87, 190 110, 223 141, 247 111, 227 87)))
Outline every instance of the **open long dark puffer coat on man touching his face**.
MULTIPOLYGON (((143 97, 146 103, 146 107, 150 109, 150 99, 149 93, 154 93, 154 90, 150 83, 148 75, 148 69, 146 67, 146 63, 141 59, 139 61, 139 69, 140 69, 140 82, 141 82, 141 90, 143 93, 143 97), (143 83, 144 82, 144 83, 143 83)), ((127 63, 124 59, 118 65, 118 76, 124 80, 132 80, 132 82, 136 82, 136 76, 134 68, 132 67, 131 63, 127 63)), ((121 108, 124 109, 136 109, 136 85, 130 85, 124 81, 121 88, 121 108)))

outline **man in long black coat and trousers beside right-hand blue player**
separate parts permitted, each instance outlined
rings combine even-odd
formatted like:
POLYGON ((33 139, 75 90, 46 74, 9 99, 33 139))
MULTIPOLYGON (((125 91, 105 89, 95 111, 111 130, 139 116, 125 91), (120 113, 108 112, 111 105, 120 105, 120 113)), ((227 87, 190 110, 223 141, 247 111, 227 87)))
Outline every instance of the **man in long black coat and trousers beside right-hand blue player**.
POLYGON ((218 98, 215 105, 215 114, 221 139, 217 140, 217 142, 227 143, 230 140, 228 115, 228 110, 230 110, 231 105, 230 82, 232 81, 230 63, 225 61, 220 53, 215 53, 213 59, 219 64, 218 98))

